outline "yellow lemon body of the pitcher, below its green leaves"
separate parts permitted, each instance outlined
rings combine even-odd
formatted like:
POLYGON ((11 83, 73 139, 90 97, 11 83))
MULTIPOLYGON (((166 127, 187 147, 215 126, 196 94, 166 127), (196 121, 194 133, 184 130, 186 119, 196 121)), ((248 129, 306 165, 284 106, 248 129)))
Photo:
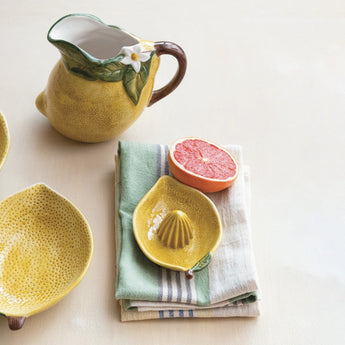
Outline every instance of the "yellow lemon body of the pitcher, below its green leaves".
POLYGON ((36 106, 64 136, 90 143, 106 141, 132 125, 148 105, 158 67, 159 57, 153 55, 148 80, 135 105, 122 82, 80 78, 67 71, 60 59, 36 106))

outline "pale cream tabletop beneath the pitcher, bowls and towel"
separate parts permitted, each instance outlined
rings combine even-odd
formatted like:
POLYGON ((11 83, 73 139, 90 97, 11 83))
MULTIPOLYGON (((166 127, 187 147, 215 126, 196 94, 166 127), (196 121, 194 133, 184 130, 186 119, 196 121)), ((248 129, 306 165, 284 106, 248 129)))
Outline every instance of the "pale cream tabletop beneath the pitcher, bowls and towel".
MULTIPOLYGON (((1 344, 345 343, 345 2, 343 0, 1 0, 0 109, 11 150, 0 199, 44 182, 93 230, 83 281, 1 344), (120 137, 64 138, 35 108, 59 53, 49 27, 92 13, 152 41, 181 45, 187 74, 120 137), (253 244, 263 300, 253 319, 121 323, 115 301, 114 155, 119 139, 200 136, 241 144, 252 174, 253 244)), ((162 58, 156 87, 174 74, 162 58)))

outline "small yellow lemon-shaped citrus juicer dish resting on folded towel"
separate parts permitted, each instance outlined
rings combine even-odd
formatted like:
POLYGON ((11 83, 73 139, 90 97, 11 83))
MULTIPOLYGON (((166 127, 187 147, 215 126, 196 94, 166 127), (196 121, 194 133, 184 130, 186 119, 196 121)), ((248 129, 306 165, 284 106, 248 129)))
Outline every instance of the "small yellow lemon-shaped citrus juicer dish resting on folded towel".
POLYGON ((170 176, 162 176, 139 202, 133 231, 151 261, 185 271, 189 279, 208 265, 222 237, 213 202, 170 176))

